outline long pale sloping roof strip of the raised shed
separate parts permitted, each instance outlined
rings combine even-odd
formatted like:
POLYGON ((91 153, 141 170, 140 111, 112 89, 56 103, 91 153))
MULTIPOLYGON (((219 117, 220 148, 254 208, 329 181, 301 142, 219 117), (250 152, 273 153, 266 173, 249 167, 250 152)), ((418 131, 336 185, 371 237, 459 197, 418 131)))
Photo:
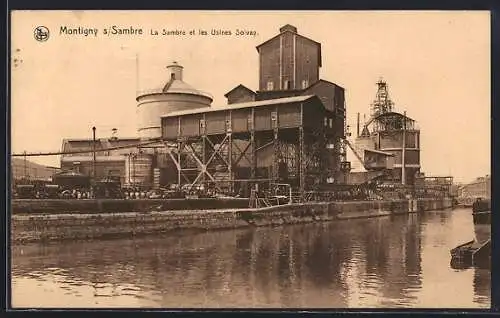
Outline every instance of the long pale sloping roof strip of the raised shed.
POLYGON ((261 107, 261 106, 269 106, 269 105, 278 105, 278 104, 290 104, 290 103, 300 103, 311 98, 317 98, 316 95, 304 95, 304 96, 293 96, 293 97, 285 97, 285 98, 277 98, 277 99, 268 99, 262 101, 253 101, 246 103, 235 103, 224 106, 210 107, 210 108, 196 108, 196 109, 188 109, 188 110, 180 110, 176 112, 171 112, 162 117, 175 117, 175 116, 183 116, 183 115, 192 115, 198 113, 211 113, 232 109, 241 109, 241 108, 250 108, 250 107, 261 107))

